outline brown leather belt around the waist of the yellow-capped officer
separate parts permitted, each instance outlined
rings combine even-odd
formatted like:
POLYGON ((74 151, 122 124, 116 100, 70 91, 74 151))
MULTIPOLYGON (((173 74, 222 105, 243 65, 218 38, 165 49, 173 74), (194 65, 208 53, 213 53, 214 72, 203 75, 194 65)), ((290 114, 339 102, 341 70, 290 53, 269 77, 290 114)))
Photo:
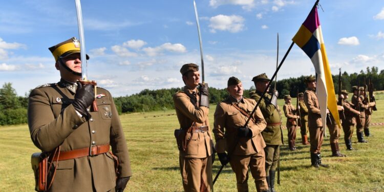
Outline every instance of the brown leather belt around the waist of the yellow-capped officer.
POLYGON ((103 153, 108 153, 110 151, 110 144, 105 145, 91 145, 86 148, 79 148, 78 150, 72 150, 68 152, 60 152, 59 158, 57 158, 58 154, 55 154, 53 157, 53 161, 62 161, 68 159, 76 159, 80 157, 86 156, 95 156, 103 153))

